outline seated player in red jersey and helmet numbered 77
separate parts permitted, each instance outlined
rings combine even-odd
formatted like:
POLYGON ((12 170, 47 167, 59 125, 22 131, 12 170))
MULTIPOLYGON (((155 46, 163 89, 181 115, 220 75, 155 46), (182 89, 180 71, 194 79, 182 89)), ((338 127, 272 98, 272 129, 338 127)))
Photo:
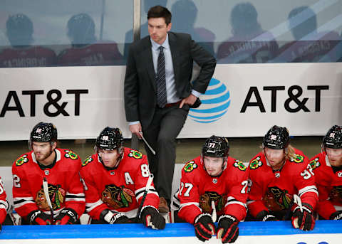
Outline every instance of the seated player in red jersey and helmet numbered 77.
POLYGON ((177 219, 181 218, 194 224, 195 234, 202 241, 216 234, 222 243, 234 243, 239 221, 246 216, 247 190, 247 167, 229 157, 227 138, 213 135, 204 143, 201 156, 182 169, 170 222, 180 222, 177 219))

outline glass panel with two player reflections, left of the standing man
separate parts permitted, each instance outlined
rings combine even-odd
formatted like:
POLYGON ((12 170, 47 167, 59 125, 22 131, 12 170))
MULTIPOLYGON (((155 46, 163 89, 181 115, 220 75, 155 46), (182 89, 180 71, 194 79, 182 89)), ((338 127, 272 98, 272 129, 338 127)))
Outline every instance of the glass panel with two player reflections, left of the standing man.
POLYGON ((0 13, 0 67, 125 64, 133 1, 2 0, 0 13))

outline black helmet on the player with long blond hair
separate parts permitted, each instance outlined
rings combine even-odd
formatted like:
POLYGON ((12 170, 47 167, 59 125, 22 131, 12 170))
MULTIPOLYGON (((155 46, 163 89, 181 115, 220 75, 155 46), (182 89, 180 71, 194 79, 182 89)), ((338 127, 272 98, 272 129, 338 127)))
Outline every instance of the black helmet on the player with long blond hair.
POLYGON ((285 149, 289 146, 290 136, 286 127, 274 125, 265 134, 262 145, 271 149, 285 149))

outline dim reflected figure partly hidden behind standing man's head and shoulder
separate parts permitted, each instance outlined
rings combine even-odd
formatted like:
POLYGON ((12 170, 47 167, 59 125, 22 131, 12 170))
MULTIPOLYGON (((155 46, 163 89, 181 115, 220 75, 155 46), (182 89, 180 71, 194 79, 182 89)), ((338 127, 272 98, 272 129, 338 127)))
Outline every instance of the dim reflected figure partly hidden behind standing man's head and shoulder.
POLYGON ((179 0, 172 5, 172 29, 174 32, 188 33, 199 46, 214 55, 214 40, 216 38, 212 31, 206 28, 195 28, 197 19, 197 6, 191 0, 179 0))

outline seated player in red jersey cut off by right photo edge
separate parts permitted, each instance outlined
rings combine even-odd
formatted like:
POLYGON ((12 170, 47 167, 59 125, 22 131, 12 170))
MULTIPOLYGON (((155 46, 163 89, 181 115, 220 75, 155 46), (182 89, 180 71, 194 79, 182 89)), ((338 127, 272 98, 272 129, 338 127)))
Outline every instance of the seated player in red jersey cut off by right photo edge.
POLYGON ((322 152, 310 160, 318 189, 320 218, 342 219, 342 126, 334 125, 323 137, 322 152))

